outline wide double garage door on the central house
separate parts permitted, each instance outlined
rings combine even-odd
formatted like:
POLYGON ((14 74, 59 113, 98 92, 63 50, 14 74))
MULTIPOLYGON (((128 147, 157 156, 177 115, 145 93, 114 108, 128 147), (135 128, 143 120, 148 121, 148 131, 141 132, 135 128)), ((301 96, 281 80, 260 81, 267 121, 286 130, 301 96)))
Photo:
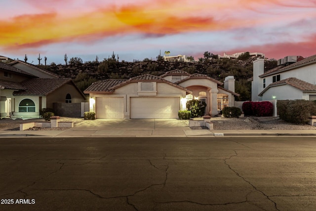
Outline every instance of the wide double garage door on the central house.
POLYGON ((131 97, 131 119, 178 118, 179 97, 131 97))

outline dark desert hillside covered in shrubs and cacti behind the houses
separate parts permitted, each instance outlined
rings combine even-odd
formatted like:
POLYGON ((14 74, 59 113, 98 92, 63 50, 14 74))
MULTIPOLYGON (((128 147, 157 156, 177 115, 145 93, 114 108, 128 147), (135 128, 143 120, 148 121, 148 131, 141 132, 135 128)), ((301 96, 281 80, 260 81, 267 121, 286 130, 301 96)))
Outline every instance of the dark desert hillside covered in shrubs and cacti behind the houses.
MULTIPOLYGON (((113 52, 109 58, 99 61, 98 56, 93 61, 83 62, 79 57, 72 57, 68 61, 65 54, 65 64, 39 65, 40 68, 51 71, 63 78, 71 78, 83 91, 90 84, 106 79, 129 79, 142 74, 160 76, 170 70, 183 70, 190 74, 199 73, 223 82, 225 77, 233 75, 236 79, 235 92, 240 94, 237 100, 245 101, 251 99, 251 82, 247 79, 252 77, 252 62, 249 52, 240 55, 237 59, 218 58, 217 55, 204 52, 204 57, 197 61, 183 62, 164 61, 161 55, 156 61, 145 58, 143 61, 133 62, 119 61, 118 55, 113 52)), ((194 60, 190 56, 191 60, 194 60)), ((266 60, 265 68, 270 70, 276 67, 275 59, 266 60)))

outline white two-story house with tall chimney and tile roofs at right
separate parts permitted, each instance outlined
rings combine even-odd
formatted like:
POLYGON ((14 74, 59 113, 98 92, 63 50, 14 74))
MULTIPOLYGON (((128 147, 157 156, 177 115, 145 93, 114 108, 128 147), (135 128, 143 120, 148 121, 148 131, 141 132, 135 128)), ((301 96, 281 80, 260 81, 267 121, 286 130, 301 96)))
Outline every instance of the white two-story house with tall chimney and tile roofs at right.
POLYGON ((316 100, 316 55, 300 59, 298 56, 297 62, 267 72, 264 72, 264 59, 254 61, 253 78, 249 79, 251 100, 316 100))

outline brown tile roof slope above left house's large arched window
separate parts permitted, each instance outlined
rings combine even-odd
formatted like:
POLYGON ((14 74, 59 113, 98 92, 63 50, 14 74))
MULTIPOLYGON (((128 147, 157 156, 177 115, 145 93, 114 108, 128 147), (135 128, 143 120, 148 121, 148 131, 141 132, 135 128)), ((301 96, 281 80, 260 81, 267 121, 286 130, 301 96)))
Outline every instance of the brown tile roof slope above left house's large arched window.
POLYGON ((70 82, 71 79, 29 79, 21 82, 25 90, 14 91, 13 95, 47 95, 70 82))

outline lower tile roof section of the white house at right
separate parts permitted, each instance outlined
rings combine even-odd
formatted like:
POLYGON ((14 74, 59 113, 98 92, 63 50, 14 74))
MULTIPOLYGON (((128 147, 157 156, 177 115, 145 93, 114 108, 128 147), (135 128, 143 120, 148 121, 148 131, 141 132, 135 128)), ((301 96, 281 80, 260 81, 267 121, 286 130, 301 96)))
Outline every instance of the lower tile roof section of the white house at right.
POLYGON ((302 90, 303 92, 316 92, 316 85, 299 80, 297 78, 288 78, 288 79, 284 79, 284 80, 269 84, 262 92, 260 92, 259 96, 262 96, 263 93, 266 92, 270 87, 279 86, 279 85, 290 85, 302 90))

